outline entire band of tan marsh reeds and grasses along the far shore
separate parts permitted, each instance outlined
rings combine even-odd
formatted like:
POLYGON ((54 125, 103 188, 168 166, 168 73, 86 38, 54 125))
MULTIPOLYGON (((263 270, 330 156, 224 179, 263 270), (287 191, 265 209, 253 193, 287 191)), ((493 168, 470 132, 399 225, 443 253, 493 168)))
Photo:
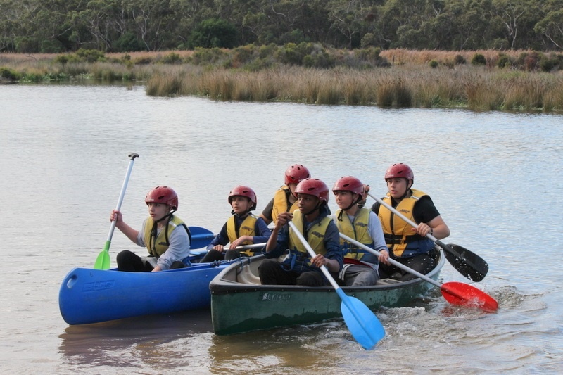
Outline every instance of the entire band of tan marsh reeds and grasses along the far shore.
MULTIPOLYGON (((513 51, 503 56, 516 60, 522 53, 513 51)), ((215 56, 224 56, 224 52, 210 57, 215 56)), ((189 63, 183 59, 194 57, 190 51, 108 54, 105 61, 65 64, 53 63, 53 56, 0 54, 0 69, 24 72, 26 77, 32 77, 28 79, 31 81, 71 77, 108 83, 144 82, 151 96, 196 95, 220 101, 393 108, 563 111, 563 70, 498 68, 498 51, 388 50, 381 51, 381 56, 390 66, 337 65, 327 69, 278 63, 253 70, 241 63, 236 64, 241 68, 232 68, 232 61, 189 63), (485 56, 486 66, 460 63, 469 61, 475 53, 485 56)))

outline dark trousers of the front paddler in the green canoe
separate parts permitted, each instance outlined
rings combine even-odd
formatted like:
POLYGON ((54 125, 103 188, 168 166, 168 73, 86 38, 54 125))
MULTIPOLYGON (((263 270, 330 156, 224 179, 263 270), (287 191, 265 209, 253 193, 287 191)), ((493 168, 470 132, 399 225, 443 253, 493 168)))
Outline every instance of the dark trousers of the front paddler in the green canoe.
POLYGON ((303 285, 324 286, 327 285, 320 272, 307 271, 303 273, 286 271, 277 260, 267 259, 262 261, 258 267, 260 284, 262 285, 303 285))

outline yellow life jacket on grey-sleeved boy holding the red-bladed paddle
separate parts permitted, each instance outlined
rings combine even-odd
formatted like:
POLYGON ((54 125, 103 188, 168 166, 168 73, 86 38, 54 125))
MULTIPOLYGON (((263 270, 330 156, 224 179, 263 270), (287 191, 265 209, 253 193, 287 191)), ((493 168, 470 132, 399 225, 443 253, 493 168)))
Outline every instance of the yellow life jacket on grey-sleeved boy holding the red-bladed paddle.
MULTIPOLYGON (((336 217, 339 217, 340 212, 341 210, 336 210, 336 217)), ((335 220, 336 227, 339 228, 339 231, 342 234, 346 234, 346 236, 351 239, 355 239, 356 241, 373 248, 374 240, 372 239, 372 236, 369 236, 369 231, 367 231, 369 212, 371 212, 371 210, 368 208, 360 208, 354 217, 354 222, 350 222, 350 217, 346 215, 346 212, 343 212, 342 220, 335 220)), ((365 250, 358 248, 358 246, 355 246, 344 239, 340 239, 340 244, 346 252, 344 258, 360 260, 366 253, 365 250)))

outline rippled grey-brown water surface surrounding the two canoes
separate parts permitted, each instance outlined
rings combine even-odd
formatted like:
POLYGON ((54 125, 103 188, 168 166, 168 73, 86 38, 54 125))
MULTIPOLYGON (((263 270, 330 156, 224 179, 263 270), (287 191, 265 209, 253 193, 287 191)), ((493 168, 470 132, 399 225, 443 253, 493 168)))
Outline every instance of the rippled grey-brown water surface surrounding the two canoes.
MULTIPOLYGON (((563 370, 563 116, 382 110, 151 98, 144 87, 0 86, 2 374, 555 374, 563 370), (457 243, 490 267, 495 314, 434 288, 376 311, 386 337, 362 350, 341 321, 215 336, 209 310, 68 326, 58 289, 92 267, 127 170, 122 212, 166 184, 179 217, 217 233, 237 184, 258 212, 303 163, 327 185, 353 175, 382 196, 407 163, 457 243), (13 241, 12 241, 13 240, 13 241), (6 243, 6 241, 8 241, 6 243)), ((334 211, 336 205, 331 202, 334 211)), ((134 246, 115 231, 112 264, 134 246)), ((472 284, 446 263, 442 281, 472 284)))

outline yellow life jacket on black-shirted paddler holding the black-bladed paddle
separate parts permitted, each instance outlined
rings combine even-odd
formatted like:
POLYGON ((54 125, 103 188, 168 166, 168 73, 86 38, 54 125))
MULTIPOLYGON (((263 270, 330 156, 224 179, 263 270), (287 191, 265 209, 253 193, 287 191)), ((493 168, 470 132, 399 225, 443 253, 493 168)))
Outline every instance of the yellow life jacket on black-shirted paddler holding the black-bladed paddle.
MULTIPOLYGON (((414 222, 415 219, 412 216, 412 211, 415 208, 415 203, 423 196, 426 196, 426 193, 417 189, 410 190, 412 191, 412 195, 408 198, 403 198, 397 205, 396 210, 414 222)), ((391 195, 387 193, 383 201, 388 205, 392 205, 391 195)), ((411 225, 393 214, 391 210, 388 210, 383 205, 379 207, 378 217, 381 221, 381 228, 385 235, 386 245, 389 250, 393 251, 393 255, 396 257, 403 255, 409 243, 419 241, 420 236, 411 230, 411 225), (391 222, 391 220, 393 220, 393 222, 391 222), (390 239, 393 239, 393 241, 390 241, 390 239)))

